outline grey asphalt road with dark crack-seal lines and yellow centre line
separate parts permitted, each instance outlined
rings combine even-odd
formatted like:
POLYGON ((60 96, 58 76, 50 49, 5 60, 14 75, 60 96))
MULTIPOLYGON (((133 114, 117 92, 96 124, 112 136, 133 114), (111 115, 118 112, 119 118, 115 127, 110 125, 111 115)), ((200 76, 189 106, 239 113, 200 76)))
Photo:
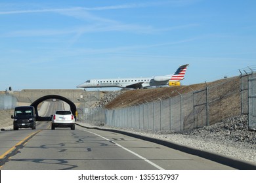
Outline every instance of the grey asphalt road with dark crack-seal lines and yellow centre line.
MULTIPOLYGON (((47 108, 47 115, 58 103, 47 108)), ((51 122, 37 122, 35 130, 1 131, 0 141, 1 170, 233 169, 154 142, 78 125, 74 131, 51 130, 51 122)))

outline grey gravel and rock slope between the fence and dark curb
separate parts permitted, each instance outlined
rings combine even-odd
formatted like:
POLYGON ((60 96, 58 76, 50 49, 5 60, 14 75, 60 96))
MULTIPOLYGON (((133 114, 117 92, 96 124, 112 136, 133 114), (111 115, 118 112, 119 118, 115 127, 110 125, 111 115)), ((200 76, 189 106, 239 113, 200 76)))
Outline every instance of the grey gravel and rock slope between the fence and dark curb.
POLYGON ((256 164, 256 132, 248 131, 244 115, 190 131, 143 134, 256 164))

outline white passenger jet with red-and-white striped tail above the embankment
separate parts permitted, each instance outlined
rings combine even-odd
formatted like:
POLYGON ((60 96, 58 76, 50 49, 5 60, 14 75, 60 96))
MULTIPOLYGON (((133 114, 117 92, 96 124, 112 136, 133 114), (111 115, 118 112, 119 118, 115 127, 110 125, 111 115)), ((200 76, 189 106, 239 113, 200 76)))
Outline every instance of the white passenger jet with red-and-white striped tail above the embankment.
POLYGON ((188 64, 181 65, 173 75, 153 76, 149 78, 112 78, 112 79, 91 79, 77 88, 133 88, 141 89, 152 86, 180 86, 181 80, 184 79, 188 64))

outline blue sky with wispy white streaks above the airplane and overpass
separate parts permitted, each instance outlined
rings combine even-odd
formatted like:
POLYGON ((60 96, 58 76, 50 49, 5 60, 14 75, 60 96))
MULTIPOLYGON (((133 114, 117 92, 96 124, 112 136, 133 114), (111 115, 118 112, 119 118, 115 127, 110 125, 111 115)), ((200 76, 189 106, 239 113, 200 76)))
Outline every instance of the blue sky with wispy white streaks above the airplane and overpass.
POLYGON ((255 9, 253 0, 2 0, 0 90, 75 89, 186 63, 182 84, 239 75, 256 64, 255 9))

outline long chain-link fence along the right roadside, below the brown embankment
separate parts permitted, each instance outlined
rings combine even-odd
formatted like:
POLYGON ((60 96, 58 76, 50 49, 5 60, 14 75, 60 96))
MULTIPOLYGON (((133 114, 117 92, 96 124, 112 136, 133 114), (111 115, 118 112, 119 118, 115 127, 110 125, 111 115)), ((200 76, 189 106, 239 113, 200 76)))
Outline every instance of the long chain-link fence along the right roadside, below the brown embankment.
POLYGON ((79 118, 85 122, 148 131, 182 131, 203 127, 246 110, 242 108, 245 104, 241 99, 244 96, 240 82, 242 78, 239 76, 226 78, 211 85, 205 83, 202 90, 191 89, 191 92, 184 94, 176 91, 176 97, 114 110, 79 108, 79 118))

